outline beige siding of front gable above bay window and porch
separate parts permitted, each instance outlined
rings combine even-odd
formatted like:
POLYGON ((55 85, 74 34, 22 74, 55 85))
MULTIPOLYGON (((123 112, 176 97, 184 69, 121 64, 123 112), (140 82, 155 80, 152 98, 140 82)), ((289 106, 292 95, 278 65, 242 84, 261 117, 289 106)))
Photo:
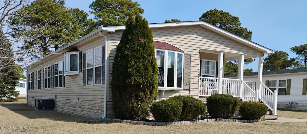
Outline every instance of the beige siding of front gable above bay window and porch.
POLYGON ((168 40, 181 49, 207 49, 237 54, 253 54, 263 56, 260 51, 247 47, 231 39, 213 33, 201 26, 179 28, 151 29, 156 40, 168 40))

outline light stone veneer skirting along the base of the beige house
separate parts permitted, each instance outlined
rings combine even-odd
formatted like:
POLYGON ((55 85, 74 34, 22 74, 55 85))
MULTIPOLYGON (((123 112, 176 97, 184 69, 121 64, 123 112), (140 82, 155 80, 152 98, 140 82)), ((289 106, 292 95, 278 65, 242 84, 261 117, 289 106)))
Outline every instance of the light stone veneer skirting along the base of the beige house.
MULTIPOLYGON (((35 99, 39 98, 28 98, 28 105, 34 106, 35 99)), ((101 118, 104 116, 104 102, 56 99, 54 110, 84 117, 101 118)), ((112 112, 112 102, 107 102, 107 117, 114 117, 112 112)))

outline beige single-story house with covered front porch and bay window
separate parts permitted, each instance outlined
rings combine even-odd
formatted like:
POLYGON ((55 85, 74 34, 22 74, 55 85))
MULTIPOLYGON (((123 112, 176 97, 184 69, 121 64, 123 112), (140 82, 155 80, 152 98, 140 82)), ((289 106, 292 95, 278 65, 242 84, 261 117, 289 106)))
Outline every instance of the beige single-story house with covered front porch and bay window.
MULTIPOLYGON (((204 21, 149 27, 160 70, 158 99, 190 95, 205 102, 211 94, 223 93, 243 101, 260 99, 276 115, 276 105, 270 105, 273 100, 263 100, 243 84, 244 59, 257 57, 262 61, 263 55, 272 50, 204 21), (238 79, 223 78, 224 62, 231 60, 239 60, 238 79)), ((33 85, 28 86, 28 105, 34 106, 34 99, 56 99, 57 111, 112 117, 112 63, 124 29, 125 26, 99 28, 26 66, 29 85, 33 85)), ((262 62, 258 70, 262 70, 262 62)), ((261 78, 262 73, 258 75, 261 78)))

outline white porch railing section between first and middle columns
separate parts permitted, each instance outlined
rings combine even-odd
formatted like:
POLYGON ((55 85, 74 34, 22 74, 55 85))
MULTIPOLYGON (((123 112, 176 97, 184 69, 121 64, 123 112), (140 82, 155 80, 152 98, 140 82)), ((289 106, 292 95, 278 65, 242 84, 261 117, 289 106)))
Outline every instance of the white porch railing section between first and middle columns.
POLYGON ((222 94, 232 95, 234 97, 239 97, 239 79, 227 79, 223 78, 223 91, 222 94))

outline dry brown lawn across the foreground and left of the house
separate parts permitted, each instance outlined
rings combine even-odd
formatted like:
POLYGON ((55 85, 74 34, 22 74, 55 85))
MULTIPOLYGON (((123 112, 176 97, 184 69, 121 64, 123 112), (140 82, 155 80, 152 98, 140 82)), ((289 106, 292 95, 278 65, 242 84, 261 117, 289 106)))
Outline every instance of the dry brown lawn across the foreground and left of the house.
MULTIPOLYGON (((20 100, 22 101, 22 100, 20 100)), ((306 123, 211 122, 173 126, 146 126, 123 123, 91 123, 89 118, 55 111, 36 111, 18 102, 0 103, 0 126, 28 126, 31 130, 0 130, 0 133, 307 133, 306 123)))

